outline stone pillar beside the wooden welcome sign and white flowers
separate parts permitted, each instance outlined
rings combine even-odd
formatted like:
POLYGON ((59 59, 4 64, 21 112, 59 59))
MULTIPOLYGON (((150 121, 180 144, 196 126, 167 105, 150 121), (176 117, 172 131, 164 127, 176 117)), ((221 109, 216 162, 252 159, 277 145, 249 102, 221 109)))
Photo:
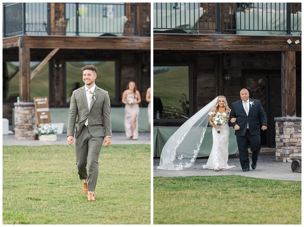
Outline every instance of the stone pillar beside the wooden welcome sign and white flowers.
POLYGON ((35 107, 33 102, 15 102, 15 139, 33 140, 36 138, 35 107))

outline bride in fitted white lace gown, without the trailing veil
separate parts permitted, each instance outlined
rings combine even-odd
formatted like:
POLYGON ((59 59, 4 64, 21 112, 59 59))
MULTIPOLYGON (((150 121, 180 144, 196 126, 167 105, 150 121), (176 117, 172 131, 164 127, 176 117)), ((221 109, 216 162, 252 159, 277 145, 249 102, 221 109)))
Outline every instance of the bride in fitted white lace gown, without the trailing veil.
MULTIPOLYGON (((228 107, 226 97, 219 96, 217 104, 209 112, 209 123, 212 125, 212 138, 213 145, 212 150, 206 165, 203 165, 204 169, 214 169, 216 171, 226 170, 235 166, 229 166, 228 162, 228 145, 229 145, 229 126, 228 123, 222 126, 216 126, 212 122, 212 117, 216 115, 225 116, 229 120, 230 108, 228 107), (217 130, 220 129, 220 133, 217 130)), ((236 118, 231 119, 231 122, 235 122, 236 118)))

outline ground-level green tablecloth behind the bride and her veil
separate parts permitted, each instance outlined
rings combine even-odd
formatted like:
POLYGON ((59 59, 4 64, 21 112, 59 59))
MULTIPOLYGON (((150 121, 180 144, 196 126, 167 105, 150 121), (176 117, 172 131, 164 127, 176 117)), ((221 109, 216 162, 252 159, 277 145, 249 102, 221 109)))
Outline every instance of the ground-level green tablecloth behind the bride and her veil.
MULTIPOLYGON (((154 126, 153 127, 153 146, 154 146, 154 157, 161 156, 161 150, 163 146, 167 142, 167 140, 172 136, 172 134, 178 129, 179 127, 165 127, 165 126, 154 126)), ((230 135, 229 135, 229 146, 228 146, 228 153, 235 154, 237 153, 237 139, 234 135, 233 127, 230 127, 230 135)), ((201 148, 199 150, 198 157, 206 157, 210 155, 212 149, 212 128, 207 127, 204 140, 202 142, 201 148)))

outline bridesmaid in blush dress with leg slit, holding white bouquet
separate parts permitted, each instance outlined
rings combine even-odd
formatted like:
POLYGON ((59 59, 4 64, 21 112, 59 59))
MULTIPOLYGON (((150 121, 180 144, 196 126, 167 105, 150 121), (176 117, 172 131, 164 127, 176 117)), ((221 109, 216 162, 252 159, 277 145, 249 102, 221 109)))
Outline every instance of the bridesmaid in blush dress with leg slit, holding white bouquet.
POLYGON ((139 91, 136 90, 134 81, 130 81, 126 91, 123 92, 122 102, 125 104, 126 137, 129 139, 138 139, 138 104, 141 102, 141 98, 139 91), (126 100, 133 100, 133 103, 129 103, 126 100))

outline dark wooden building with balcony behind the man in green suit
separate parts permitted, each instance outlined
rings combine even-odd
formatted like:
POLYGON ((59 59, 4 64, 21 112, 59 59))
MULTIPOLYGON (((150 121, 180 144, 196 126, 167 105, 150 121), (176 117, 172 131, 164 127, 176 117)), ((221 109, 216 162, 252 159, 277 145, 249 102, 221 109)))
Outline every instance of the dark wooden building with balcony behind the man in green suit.
POLYGON ((71 91, 82 86, 81 65, 92 62, 109 63, 98 71, 96 84, 107 88, 111 73, 112 107, 123 106, 131 80, 140 106, 147 107, 150 3, 15 3, 4 5, 3 15, 3 118, 10 124, 17 96, 33 102, 33 90, 43 91, 51 108, 68 108, 71 91), (33 83, 38 74, 40 82, 33 83), (72 84, 76 77, 79 83, 72 84))

